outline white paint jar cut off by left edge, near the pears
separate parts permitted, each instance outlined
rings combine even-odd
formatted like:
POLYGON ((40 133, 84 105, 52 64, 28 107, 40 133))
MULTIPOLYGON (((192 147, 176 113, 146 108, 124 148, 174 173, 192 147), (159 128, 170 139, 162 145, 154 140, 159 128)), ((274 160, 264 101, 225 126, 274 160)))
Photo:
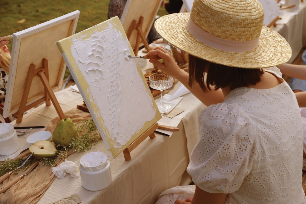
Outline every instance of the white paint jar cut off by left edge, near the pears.
POLYGON ((0 123, 0 155, 11 155, 19 149, 19 141, 14 126, 10 123, 0 123))

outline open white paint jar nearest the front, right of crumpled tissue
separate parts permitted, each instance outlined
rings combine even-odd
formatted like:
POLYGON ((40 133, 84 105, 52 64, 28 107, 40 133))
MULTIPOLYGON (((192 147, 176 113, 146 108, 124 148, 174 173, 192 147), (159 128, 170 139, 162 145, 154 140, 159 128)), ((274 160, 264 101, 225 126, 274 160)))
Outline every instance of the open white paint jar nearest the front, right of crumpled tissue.
POLYGON ((80 175, 82 186, 89 191, 100 191, 110 185, 110 162, 103 152, 90 152, 81 157, 80 175))

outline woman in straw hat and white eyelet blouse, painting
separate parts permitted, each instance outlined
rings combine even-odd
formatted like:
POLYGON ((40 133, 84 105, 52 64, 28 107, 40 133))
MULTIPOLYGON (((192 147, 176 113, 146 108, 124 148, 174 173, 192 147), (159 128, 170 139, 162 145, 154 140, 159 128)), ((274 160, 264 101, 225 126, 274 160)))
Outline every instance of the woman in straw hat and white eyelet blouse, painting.
POLYGON ((150 62, 208 106, 187 167, 194 189, 182 197, 184 187, 168 189, 156 203, 306 203, 299 106, 275 67, 292 52, 263 20, 257 0, 195 0, 191 13, 155 22, 166 41, 189 53, 189 73, 163 47, 147 53, 162 62, 150 62))

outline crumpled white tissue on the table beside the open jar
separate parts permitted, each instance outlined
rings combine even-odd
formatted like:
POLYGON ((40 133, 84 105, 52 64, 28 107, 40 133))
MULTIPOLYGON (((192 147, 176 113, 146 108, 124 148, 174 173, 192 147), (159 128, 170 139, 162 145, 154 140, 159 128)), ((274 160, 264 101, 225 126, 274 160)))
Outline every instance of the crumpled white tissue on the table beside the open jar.
POLYGON ((80 176, 79 167, 75 162, 68 161, 65 159, 64 162, 60 163, 57 167, 52 167, 52 172, 57 178, 64 178, 66 173, 70 173, 71 177, 77 178, 80 176))

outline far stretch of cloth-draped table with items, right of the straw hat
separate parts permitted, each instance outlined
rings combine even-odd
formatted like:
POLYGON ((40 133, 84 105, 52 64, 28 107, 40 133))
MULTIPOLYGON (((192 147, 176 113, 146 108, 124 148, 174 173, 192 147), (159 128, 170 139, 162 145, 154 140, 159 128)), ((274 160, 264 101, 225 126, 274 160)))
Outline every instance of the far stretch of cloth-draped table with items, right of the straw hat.
MULTIPOLYGON (((299 55, 302 47, 306 47, 306 1, 300 2, 299 7, 284 9, 282 13, 290 15, 289 21, 280 23, 281 21, 279 20, 276 22, 277 26, 271 26, 271 28, 281 34, 291 46, 292 57, 289 63, 292 63, 299 55), (293 12, 296 14, 293 15, 293 12)), ((280 17, 284 17, 284 15, 280 17)))

